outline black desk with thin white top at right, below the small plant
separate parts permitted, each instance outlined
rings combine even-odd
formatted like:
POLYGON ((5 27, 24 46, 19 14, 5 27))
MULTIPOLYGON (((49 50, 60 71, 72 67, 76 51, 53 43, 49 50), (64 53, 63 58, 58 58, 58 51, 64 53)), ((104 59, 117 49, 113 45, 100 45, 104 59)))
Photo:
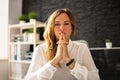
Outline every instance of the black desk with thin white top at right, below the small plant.
POLYGON ((101 80, 120 80, 120 47, 90 48, 90 51, 101 80))

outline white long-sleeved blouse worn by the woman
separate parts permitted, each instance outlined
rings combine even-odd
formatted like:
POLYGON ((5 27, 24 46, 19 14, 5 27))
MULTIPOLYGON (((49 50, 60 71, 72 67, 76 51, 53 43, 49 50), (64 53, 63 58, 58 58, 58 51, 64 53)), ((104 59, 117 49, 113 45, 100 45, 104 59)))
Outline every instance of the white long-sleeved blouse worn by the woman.
POLYGON ((35 48, 25 80, 100 80, 98 69, 86 44, 69 41, 68 53, 76 62, 72 70, 62 60, 61 67, 54 67, 47 62, 45 47, 44 43, 35 48))

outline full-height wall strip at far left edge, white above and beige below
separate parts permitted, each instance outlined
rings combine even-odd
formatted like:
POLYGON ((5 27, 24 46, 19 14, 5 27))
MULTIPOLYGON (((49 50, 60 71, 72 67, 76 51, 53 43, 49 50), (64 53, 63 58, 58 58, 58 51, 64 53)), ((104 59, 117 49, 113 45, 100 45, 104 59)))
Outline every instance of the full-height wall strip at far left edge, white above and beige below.
POLYGON ((0 80, 8 80, 8 4, 0 0, 0 80))

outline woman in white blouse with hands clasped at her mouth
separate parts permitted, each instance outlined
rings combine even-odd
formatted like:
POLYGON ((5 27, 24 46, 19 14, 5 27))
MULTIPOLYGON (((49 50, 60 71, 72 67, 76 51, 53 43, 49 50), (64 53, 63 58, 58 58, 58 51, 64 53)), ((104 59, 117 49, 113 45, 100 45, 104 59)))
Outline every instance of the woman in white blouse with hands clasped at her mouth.
POLYGON ((88 47, 71 41, 76 26, 68 9, 48 18, 45 43, 36 47, 25 80, 100 80, 88 47))

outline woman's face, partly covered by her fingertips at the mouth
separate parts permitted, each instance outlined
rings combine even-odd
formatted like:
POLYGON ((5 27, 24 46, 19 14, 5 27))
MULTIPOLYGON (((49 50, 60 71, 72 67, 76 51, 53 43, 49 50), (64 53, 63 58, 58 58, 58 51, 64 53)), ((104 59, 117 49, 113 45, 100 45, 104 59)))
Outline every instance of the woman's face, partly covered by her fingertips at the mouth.
POLYGON ((61 13, 58 17, 55 18, 54 34, 57 41, 59 40, 61 33, 63 33, 66 40, 69 41, 70 35, 72 33, 72 25, 66 13, 61 13))

